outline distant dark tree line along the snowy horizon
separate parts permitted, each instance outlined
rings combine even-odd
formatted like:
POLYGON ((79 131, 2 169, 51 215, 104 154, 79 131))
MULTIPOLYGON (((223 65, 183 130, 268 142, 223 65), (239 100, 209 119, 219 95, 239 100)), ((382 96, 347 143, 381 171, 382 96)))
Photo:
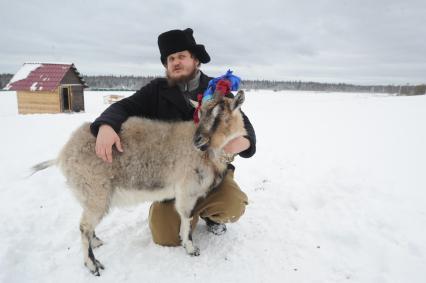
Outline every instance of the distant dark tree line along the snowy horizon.
MULTIPOLYGON (((12 78, 12 74, 0 74, 0 89, 12 78)), ((83 76, 89 90, 138 90, 156 78, 155 76, 83 76)), ((305 90, 338 92, 396 93, 419 95, 426 93, 426 84, 420 85, 354 85, 345 83, 318 83, 304 81, 243 80, 241 87, 246 90, 305 90)))

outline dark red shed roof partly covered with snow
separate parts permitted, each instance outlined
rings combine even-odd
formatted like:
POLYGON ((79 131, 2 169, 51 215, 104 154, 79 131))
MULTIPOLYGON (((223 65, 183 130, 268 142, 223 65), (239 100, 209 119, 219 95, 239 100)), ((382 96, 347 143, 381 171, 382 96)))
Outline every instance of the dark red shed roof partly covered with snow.
MULTIPOLYGON (((14 81, 12 78, 6 88, 10 90, 31 90, 31 91, 54 91, 60 84, 68 70, 74 71, 83 87, 87 87, 80 73, 74 64, 56 63, 25 63, 22 67, 28 68, 32 64, 35 68, 28 73, 26 78, 19 78, 14 81)), ((19 72, 19 71, 18 71, 19 72)))

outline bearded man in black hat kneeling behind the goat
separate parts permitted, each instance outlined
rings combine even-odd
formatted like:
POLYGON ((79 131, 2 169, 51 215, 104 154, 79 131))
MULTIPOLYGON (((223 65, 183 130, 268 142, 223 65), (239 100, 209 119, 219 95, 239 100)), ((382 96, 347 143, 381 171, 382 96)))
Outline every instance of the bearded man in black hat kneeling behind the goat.
MULTIPOLYGON (((170 30, 158 36, 161 62, 166 78, 158 78, 109 108, 91 125, 97 136, 96 154, 105 162, 113 162, 112 146, 120 152, 126 150, 120 143, 121 125, 130 116, 166 121, 193 119, 194 107, 190 99, 197 100, 212 79, 199 70, 201 63, 208 63, 210 56, 204 45, 197 44, 192 29, 170 30)), ((228 94, 232 95, 232 94, 228 94)), ((243 114, 248 136, 230 141, 224 150, 228 153, 251 157, 256 151, 256 136, 248 118, 243 114)), ((233 180, 234 166, 228 165, 223 182, 205 198, 199 200, 193 211, 192 229, 201 217, 208 230, 220 235, 226 231, 224 223, 235 222, 245 211, 247 196, 233 180)), ((180 245, 180 218, 173 201, 155 202, 149 212, 149 226, 155 243, 164 246, 180 245)))

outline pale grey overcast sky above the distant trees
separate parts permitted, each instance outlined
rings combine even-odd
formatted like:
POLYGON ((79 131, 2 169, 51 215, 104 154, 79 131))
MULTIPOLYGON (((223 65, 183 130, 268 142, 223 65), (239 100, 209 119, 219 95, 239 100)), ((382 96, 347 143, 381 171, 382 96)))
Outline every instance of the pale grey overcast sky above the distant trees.
POLYGON ((73 62, 87 75, 162 75, 157 36, 191 27, 243 79, 426 83, 425 0, 0 0, 0 73, 73 62))

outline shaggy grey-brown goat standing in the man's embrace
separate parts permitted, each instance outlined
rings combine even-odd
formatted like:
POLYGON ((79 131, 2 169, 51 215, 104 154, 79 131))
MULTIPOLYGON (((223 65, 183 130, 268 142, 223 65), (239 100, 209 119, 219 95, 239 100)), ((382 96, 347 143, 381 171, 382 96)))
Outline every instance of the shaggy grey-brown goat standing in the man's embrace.
POLYGON ((95 228, 123 196, 135 203, 175 199, 181 225, 182 246, 192 256, 200 254, 192 242, 191 214, 199 198, 216 187, 224 176, 229 156, 223 147, 247 134, 240 111, 244 92, 234 98, 215 92, 203 102, 199 123, 165 122, 131 117, 123 123, 120 138, 124 152, 114 149, 112 164, 95 155, 96 138, 90 124, 78 128, 55 160, 33 167, 34 172, 58 165, 83 207, 80 231, 85 266, 100 275, 104 266, 93 249, 102 245, 95 228))

